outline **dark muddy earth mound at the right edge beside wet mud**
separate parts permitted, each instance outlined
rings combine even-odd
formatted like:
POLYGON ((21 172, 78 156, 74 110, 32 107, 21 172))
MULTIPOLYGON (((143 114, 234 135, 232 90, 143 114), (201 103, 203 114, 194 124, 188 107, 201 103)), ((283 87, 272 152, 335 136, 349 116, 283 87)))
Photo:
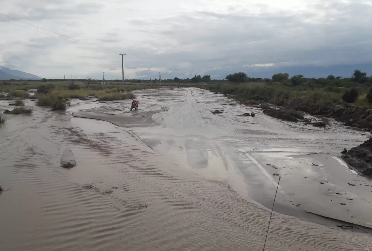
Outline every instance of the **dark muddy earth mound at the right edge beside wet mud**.
POLYGON ((342 158, 351 167, 365 175, 372 176, 372 138, 351 148, 342 158))

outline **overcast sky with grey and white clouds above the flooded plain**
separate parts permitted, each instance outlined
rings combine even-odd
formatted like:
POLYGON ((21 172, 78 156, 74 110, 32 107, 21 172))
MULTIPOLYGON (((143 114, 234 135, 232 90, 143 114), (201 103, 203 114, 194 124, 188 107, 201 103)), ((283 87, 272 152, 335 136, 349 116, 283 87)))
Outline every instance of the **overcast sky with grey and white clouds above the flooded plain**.
POLYGON ((0 0, 0 13, 0 65, 47 78, 121 76, 119 53, 126 78, 372 62, 372 0, 0 0))

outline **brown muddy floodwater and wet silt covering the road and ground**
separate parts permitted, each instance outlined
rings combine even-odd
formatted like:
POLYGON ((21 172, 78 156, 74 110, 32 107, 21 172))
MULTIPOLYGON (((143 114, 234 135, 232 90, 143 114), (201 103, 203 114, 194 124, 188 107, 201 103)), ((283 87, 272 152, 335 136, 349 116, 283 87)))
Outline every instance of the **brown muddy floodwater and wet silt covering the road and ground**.
POLYGON ((368 133, 279 121, 193 88, 136 95, 132 112, 130 100, 74 101, 7 116, 1 250, 262 250, 273 173, 266 250, 372 250, 368 228, 314 215, 372 227, 371 180, 337 158, 368 133), (61 167, 66 149, 73 168, 61 167))

